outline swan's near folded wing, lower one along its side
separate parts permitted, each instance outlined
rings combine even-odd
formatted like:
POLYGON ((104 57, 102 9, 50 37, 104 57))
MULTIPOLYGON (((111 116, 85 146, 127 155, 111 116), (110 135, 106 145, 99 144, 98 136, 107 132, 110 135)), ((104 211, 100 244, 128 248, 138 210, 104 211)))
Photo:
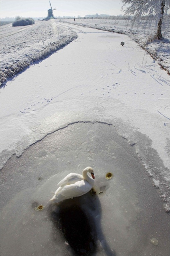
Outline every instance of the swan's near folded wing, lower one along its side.
POLYGON ((74 184, 66 185, 59 191, 65 199, 84 195, 91 190, 92 186, 86 180, 77 181, 74 184))

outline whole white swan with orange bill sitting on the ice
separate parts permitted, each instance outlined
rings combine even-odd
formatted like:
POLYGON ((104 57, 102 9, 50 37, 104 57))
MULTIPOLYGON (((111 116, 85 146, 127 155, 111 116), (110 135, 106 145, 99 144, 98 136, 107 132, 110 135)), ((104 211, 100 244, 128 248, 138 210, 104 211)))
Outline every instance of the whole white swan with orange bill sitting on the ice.
POLYGON ((55 191, 54 196, 50 199, 55 203, 59 203, 65 199, 82 196, 88 193, 95 184, 95 181, 88 175, 90 173, 95 179, 92 167, 87 167, 82 171, 82 175, 78 173, 70 173, 62 179, 55 191))

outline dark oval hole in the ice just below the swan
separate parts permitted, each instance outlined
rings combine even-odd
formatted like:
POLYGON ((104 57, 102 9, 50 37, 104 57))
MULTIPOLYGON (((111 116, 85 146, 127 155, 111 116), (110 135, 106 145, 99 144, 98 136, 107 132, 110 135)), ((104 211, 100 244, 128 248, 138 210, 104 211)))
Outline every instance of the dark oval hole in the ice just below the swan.
MULTIPOLYGON (((52 212, 52 219, 74 251, 74 255, 92 255, 96 252, 95 226, 77 204, 62 202, 52 212)), ((97 238, 96 238, 97 240, 97 238)))

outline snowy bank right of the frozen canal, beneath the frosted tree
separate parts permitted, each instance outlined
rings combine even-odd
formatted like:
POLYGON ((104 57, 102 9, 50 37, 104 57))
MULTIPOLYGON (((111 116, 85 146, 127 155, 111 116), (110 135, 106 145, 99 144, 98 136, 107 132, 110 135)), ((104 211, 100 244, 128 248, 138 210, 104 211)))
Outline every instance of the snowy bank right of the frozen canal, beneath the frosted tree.
POLYGON ((79 26, 91 27, 100 30, 125 34, 130 36, 143 49, 145 49, 154 60, 169 74, 169 19, 165 20, 163 27, 164 40, 153 40, 156 27, 153 24, 148 29, 143 29, 142 24, 133 25, 132 20, 112 20, 112 19, 60 19, 60 22, 67 22, 79 26))

